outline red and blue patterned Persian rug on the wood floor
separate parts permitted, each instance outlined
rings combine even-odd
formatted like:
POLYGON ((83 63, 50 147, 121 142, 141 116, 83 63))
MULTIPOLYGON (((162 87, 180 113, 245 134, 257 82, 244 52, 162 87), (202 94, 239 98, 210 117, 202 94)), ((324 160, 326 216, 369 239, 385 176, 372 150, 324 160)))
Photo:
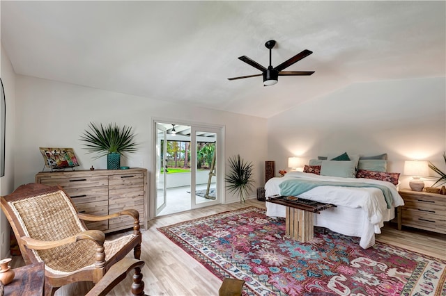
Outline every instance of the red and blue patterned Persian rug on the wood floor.
POLYGON ((284 224, 251 206, 158 230, 245 295, 446 295, 444 260, 319 228, 301 243, 284 224))

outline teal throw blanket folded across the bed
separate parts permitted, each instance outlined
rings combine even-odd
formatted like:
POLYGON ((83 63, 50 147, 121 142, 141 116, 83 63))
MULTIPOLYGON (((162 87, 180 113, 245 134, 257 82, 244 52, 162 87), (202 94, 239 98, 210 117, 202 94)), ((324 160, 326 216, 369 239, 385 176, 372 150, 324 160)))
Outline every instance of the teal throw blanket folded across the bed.
POLYGON ((337 181, 312 181, 312 180, 286 180, 280 183, 280 194, 281 195, 292 195, 297 196, 303 192, 307 192, 318 186, 340 186, 340 187, 374 187, 378 188, 383 192, 387 208, 392 208, 392 192, 389 188, 369 183, 350 183, 350 182, 337 182, 337 181))

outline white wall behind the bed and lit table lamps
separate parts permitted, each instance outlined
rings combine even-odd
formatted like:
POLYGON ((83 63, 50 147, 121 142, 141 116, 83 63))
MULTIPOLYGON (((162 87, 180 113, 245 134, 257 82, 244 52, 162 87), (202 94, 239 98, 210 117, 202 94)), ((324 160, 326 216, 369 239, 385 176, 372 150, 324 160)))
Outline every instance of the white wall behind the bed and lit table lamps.
MULTIPOLYGON (((445 168, 445 82, 440 77, 355 83, 295 106, 268 120, 268 159, 280 170, 289 156, 308 163, 328 153, 387 153, 389 172, 402 173, 403 161, 410 159, 445 168)), ((406 187, 407 177, 400 180, 406 187)))

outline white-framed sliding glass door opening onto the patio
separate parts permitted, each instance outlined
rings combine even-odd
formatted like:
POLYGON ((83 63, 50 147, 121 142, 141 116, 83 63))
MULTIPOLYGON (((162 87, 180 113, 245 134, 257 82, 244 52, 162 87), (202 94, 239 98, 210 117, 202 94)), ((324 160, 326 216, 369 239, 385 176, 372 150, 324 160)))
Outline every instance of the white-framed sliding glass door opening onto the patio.
POLYGON ((155 124, 151 215, 222 201, 222 129, 162 120, 155 124))

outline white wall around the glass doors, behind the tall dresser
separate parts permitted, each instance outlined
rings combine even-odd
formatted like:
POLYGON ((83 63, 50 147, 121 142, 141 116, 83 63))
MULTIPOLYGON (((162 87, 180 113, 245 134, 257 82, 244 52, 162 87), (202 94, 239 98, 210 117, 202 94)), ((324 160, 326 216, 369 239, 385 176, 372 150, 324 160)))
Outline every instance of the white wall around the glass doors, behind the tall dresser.
MULTIPOLYGON (((94 155, 86 154, 79 140, 89 122, 132 126, 141 148, 137 154, 129 154, 126 162, 131 166, 142 163, 142 167, 150 172, 152 117, 225 126, 224 159, 240 154, 245 160, 252 161, 256 183, 263 185, 267 155, 267 120, 264 118, 21 75, 17 75, 16 98, 15 186, 33 182, 35 174, 43 170, 44 161, 39 147, 72 147, 81 164, 77 170, 88 170, 91 165, 105 169, 105 157, 93 160, 94 155)), ((252 195, 255 195, 255 190, 252 195)), ((237 200, 238 197, 226 194, 225 202, 237 200)))

